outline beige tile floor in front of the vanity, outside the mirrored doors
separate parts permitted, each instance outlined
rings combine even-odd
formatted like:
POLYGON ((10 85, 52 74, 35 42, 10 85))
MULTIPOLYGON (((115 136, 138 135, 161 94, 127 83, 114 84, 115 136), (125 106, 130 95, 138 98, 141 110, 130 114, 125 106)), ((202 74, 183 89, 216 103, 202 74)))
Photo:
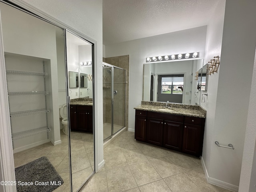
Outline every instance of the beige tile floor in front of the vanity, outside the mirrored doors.
POLYGON ((231 192, 208 184, 199 158, 122 133, 104 148, 105 165, 81 192, 231 192))

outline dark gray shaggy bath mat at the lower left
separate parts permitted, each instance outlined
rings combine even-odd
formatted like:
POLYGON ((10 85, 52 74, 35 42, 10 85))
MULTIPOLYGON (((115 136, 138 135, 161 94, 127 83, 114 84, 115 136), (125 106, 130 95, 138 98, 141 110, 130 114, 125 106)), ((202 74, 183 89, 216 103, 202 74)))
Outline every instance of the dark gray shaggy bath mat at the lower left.
POLYGON ((15 168, 15 178, 17 192, 52 192, 64 183, 46 157, 15 168))

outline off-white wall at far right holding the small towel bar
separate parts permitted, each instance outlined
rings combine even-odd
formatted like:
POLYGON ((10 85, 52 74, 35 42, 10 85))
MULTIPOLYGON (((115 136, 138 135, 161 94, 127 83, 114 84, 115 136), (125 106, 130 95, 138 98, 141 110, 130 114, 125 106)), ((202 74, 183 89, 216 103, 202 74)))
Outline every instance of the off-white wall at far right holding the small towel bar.
POLYGON ((221 181, 232 190, 238 190, 244 149, 256 46, 256 24, 248 21, 256 17, 255 8, 254 0, 226 0, 215 119, 212 141, 207 140, 212 145, 207 151, 208 175, 213 182, 221 181), (217 147, 215 140, 224 145, 231 143, 235 150, 217 147))

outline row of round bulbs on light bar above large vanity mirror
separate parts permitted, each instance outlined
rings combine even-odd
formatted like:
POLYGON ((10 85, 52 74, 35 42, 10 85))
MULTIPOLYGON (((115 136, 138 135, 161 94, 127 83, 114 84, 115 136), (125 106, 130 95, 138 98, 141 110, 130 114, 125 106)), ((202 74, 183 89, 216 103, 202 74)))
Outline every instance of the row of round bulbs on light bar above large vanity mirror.
POLYGON ((146 58, 146 62, 159 62, 159 61, 167 61, 167 60, 179 60, 179 59, 191 59, 198 58, 199 52, 194 53, 184 53, 184 54, 176 54, 176 55, 165 55, 158 57, 148 57, 146 58))

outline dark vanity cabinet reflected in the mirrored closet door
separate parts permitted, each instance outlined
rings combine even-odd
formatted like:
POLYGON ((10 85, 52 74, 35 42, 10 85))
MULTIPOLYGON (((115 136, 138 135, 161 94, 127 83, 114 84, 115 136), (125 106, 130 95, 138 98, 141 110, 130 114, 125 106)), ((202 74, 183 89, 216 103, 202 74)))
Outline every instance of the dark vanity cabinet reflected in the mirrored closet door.
POLYGON ((70 105, 71 130, 92 132, 92 125, 92 106, 70 105))

